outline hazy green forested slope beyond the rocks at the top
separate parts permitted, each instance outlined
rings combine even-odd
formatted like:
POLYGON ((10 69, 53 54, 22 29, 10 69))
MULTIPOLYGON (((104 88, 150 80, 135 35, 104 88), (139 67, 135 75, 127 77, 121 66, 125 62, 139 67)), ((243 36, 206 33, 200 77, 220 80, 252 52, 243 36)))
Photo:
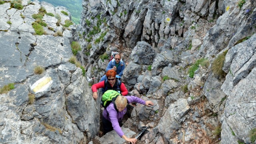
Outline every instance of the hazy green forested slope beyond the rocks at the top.
POLYGON ((80 24, 82 12, 82 0, 38 0, 40 2, 48 2, 56 6, 64 6, 71 13, 72 22, 80 24))

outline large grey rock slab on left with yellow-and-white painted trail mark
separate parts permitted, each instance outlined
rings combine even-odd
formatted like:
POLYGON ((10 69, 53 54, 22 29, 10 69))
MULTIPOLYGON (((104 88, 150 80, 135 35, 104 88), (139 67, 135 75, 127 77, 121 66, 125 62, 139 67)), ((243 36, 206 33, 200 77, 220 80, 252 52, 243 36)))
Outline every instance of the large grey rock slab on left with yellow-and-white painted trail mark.
POLYGON ((91 99, 88 81, 82 69, 69 62, 71 30, 64 29, 70 16, 64 7, 38 1, 22 1, 23 9, 0 5, 0 87, 14 83, 14 89, 0 95, 0 143, 66 143, 77 144, 94 137, 99 121, 91 99), (35 35, 32 23, 40 8, 59 16, 45 14, 46 35, 35 35), (22 16, 24 16, 22 18, 22 16), (7 22, 11 24, 7 24, 7 22), (63 30, 63 36, 52 36, 63 30), (34 73, 41 66, 44 73, 34 73), (86 94, 86 95, 84 95, 86 94), (30 102, 34 96, 34 102, 30 102), (89 105, 90 103, 90 105, 89 105))

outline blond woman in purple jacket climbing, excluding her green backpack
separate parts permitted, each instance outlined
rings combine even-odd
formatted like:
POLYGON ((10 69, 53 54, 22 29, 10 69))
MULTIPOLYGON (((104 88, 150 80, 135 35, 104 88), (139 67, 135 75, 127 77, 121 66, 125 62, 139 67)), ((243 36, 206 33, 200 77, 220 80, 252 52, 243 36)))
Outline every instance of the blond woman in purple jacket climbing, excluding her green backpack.
POLYGON ((133 102, 140 103, 148 107, 150 107, 150 105, 154 105, 154 103, 152 103, 151 101, 144 101, 138 97, 119 95, 115 101, 116 108, 114 103, 110 103, 110 105, 108 105, 108 107, 103 110, 102 122, 105 134, 114 129, 120 137, 126 140, 126 142, 131 142, 132 144, 135 144, 135 142, 137 141, 136 138, 127 138, 119 125, 122 123, 122 119, 124 117, 124 114, 126 113, 126 106, 128 105, 128 103, 133 102))

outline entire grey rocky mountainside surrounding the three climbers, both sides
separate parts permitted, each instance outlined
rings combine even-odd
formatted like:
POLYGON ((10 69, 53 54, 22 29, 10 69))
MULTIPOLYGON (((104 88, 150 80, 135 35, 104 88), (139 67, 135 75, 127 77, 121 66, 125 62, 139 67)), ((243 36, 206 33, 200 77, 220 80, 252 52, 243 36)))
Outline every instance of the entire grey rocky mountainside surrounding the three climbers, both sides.
POLYGON ((0 87, 14 89, 0 94, 0 143, 124 143, 115 131, 98 137, 100 99, 90 89, 112 51, 126 63, 129 95, 154 103, 136 104, 123 121, 126 136, 146 125, 139 141, 146 144, 255 143, 256 2, 237 2, 84 0, 80 25, 66 28, 66 8, 22 0, 17 10, 6 1, 0 87), (42 7, 54 17, 43 16, 47 27, 38 36, 32 15, 42 7), (76 65, 69 62, 72 41, 82 49, 76 65))

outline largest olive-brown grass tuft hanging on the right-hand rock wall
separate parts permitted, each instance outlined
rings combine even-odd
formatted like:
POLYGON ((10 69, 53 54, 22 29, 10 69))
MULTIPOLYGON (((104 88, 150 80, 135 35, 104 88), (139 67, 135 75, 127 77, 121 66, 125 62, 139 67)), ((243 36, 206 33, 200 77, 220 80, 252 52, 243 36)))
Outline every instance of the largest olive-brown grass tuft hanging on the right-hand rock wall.
POLYGON ((222 67, 224 65, 224 60, 227 52, 228 50, 224 51, 223 53, 218 55, 218 57, 216 57, 212 62, 211 69, 212 69, 212 72, 215 73, 216 75, 224 76, 226 74, 224 71, 222 71, 222 67))

